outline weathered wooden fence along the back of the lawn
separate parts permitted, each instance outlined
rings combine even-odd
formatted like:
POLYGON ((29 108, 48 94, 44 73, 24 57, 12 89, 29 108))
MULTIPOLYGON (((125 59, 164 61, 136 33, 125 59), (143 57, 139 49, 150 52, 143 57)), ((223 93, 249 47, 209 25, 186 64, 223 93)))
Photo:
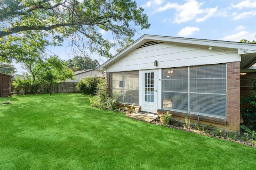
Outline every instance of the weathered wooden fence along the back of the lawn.
MULTIPOLYGON (((79 92, 76 87, 77 82, 59 82, 58 84, 52 85, 52 93, 72 93, 79 92)), ((12 88, 12 94, 38 94, 48 93, 50 90, 48 83, 42 83, 37 86, 30 84, 24 85, 18 88, 12 88)))

